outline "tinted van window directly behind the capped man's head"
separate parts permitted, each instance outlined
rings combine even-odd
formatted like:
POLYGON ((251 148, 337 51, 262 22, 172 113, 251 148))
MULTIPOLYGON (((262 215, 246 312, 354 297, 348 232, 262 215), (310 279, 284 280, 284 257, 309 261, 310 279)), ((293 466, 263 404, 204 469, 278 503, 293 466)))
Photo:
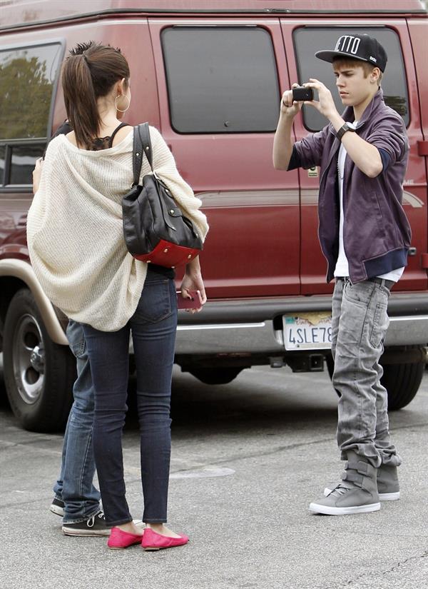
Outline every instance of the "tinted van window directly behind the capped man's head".
MULTIPOLYGON (((315 57, 315 51, 322 49, 332 49, 332 39, 338 39, 340 35, 349 33, 350 28, 345 27, 316 27, 307 26, 295 29, 293 32, 293 41, 295 45, 295 54, 297 59, 297 80, 300 84, 308 81, 310 78, 316 78, 322 81, 331 91, 337 111, 342 113, 345 107, 339 98, 335 85, 335 76, 332 70, 332 64, 321 61, 315 57)), ((362 35, 367 33, 374 36, 385 51, 387 51, 388 62, 382 78, 382 90, 384 92, 384 101, 394 111, 397 111, 404 120, 404 124, 409 124, 409 98, 407 95, 407 81, 404 69, 399 37, 392 29, 387 27, 352 27, 352 31, 362 35)), ((315 97, 317 99, 317 97, 315 97)), ((304 106, 303 121, 306 129, 309 131, 320 131, 325 126, 326 121, 318 111, 310 106, 304 106)))

